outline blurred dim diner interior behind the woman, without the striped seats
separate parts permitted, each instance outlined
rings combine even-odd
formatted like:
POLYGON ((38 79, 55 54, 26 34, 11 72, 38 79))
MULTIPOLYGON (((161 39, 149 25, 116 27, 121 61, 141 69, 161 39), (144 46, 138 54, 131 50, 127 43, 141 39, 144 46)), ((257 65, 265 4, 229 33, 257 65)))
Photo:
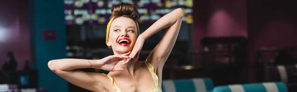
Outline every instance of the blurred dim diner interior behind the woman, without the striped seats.
MULTIPOLYGON (((141 33, 175 8, 184 9, 163 80, 210 78, 213 86, 284 82, 295 92, 297 6, 290 1, 0 0, 0 88, 89 92, 52 73, 48 61, 112 55, 105 45, 110 9, 127 2, 138 8, 141 33)), ((146 40, 140 60, 164 32, 146 40)))

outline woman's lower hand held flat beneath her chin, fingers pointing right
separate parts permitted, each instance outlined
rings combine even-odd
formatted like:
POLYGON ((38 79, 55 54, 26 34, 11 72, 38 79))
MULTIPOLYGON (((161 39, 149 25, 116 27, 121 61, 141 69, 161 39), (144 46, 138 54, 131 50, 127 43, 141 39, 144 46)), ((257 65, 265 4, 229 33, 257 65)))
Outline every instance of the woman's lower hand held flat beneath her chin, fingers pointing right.
MULTIPOLYGON (((121 60, 129 59, 128 55, 130 53, 131 53, 131 51, 129 51, 125 54, 122 54, 122 55, 109 55, 107 57, 104 57, 99 60, 98 68, 105 70, 105 71, 122 71, 123 70, 122 67, 116 68, 115 65, 121 60)), ((97 68, 97 67, 95 67, 95 68, 97 68)))

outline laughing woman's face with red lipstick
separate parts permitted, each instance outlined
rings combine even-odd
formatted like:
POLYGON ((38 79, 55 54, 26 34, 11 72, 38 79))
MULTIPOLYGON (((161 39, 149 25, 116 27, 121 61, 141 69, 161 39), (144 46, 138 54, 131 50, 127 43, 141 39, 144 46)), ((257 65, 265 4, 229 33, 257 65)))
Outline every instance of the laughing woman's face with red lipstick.
POLYGON ((137 40, 137 26, 127 17, 115 18, 109 29, 107 45, 118 53, 131 51, 137 40))

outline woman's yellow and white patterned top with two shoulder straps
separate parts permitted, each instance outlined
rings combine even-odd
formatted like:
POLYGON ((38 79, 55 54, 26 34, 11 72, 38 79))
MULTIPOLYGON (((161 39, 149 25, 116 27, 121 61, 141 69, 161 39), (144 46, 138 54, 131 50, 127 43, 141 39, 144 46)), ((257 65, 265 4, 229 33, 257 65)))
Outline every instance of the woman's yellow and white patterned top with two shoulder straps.
MULTIPOLYGON (((155 83, 155 86, 150 88, 147 92, 162 92, 162 89, 158 86, 158 76, 153 72, 153 66, 146 60, 145 61, 145 64, 147 65, 148 67, 148 70, 152 76, 152 79, 155 83)), ((105 74, 106 75, 106 74, 105 74)), ((116 92, 121 92, 121 90, 117 87, 117 85, 115 84, 114 80, 111 78, 111 76, 108 76, 106 75, 112 82, 112 86, 113 86, 113 89, 116 91, 116 92)))

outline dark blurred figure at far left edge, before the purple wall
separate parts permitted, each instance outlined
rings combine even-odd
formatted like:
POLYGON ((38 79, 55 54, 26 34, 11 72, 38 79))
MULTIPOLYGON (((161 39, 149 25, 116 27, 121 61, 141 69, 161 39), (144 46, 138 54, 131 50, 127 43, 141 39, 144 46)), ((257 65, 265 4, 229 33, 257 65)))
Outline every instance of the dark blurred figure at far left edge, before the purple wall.
POLYGON ((13 52, 9 51, 6 53, 7 59, 2 66, 3 71, 15 71, 17 66, 17 61, 14 58, 13 52))

